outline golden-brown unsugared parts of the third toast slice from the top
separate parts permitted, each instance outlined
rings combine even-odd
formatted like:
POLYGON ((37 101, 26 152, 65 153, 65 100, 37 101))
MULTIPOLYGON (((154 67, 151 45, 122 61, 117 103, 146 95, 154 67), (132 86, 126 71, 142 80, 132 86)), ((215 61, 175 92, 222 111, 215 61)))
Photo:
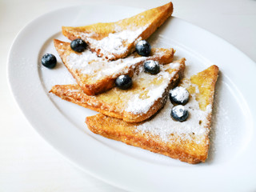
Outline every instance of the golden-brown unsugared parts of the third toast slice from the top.
MULTIPOLYGON (((147 82, 143 81, 143 79, 142 82, 134 82, 134 86, 130 90, 119 90, 118 88, 114 88, 107 91, 106 93, 98 94, 96 96, 89 96, 84 94, 78 85, 57 85, 53 86, 50 92, 56 94, 58 97, 66 101, 74 102, 79 106, 84 106, 90 110, 96 110, 110 117, 121 118, 126 122, 142 122, 147 118, 150 118, 159 109, 161 109, 162 106, 164 106, 166 103, 166 98, 168 97, 168 90, 170 89, 170 86, 177 83, 178 80, 182 77, 183 71, 185 69, 185 58, 182 58, 178 62, 181 64, 179 68, 170 68, 170 70, 167 70, 170 74, 175 73, 174 77, 170 78, 169 87, 166 87, 162 97, 154 101, 146 113, 134 114, 132 112, 127 112, 124 109, 126 103, 129 102, 130 98, 132 98, 134 94, 143 93, 143 91, 146 91, 147 87, 150 86, 149 84, 138 85, 138 83, 147 82)), ((149 74, 148 76, 151 75, 149 74)), ((154 76, 151 79, 154 79, 154 76)))

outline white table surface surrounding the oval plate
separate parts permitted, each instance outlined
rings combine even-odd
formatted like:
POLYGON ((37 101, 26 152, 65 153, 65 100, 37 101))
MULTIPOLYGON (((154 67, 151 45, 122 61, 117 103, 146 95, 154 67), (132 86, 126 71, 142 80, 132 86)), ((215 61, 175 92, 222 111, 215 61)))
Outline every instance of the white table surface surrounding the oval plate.
MULTIPOLYGON (((45 142, 18 109, 7 81, 8 51, 26 23, 50 10, 92 2, 149 9, 168 1, 0 0, 0 192, 125 191, 78 170, 45 142)), ((175 17, 217 34, 256 62, 255 0, 173 3, 175 17)))

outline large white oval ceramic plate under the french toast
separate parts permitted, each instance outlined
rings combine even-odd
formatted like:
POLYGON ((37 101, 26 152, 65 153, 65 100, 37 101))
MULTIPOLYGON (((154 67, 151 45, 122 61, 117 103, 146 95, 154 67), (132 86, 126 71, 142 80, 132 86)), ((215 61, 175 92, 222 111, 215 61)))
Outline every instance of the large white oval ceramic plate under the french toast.
POLYGON ((54 38, 68 41, 61 26, 114 22, 141 11, 122 6, 76 6, 30 22, 14 40, 8 70, 14 98, 26 118, 75 165, 126 190, 256 190, 255 63, 206 30, 170 18, 150 38, 153 46, 174 47, 176 58, 185 57, 187 75, 212 64, 220 68, 206 163, 189 165, 95 135, 84 122, 94 111, 48 94, 51 86, 74 82, 54 50, 54 38), (58 58, 54 70, 40 64, 46 53, 58 58))

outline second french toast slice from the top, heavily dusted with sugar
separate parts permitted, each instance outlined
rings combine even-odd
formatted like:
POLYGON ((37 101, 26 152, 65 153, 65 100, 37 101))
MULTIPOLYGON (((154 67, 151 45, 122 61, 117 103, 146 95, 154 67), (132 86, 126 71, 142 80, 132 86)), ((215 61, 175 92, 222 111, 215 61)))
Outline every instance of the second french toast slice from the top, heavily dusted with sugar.
POLYGON ((148 57, 131 54, 127 58, 108 61, 98 58, 95 53, 85 50, 77 53, 70 48, 70 42, 54 39, 54 46, 66 68, 78 82, 85 94, 95 95, 106 92, 115 86, 115 79, 121 74, 132 76, 134 70, 146 60, 155 60, 161 64, 172 62, 173 49, 152 49, 148 57))

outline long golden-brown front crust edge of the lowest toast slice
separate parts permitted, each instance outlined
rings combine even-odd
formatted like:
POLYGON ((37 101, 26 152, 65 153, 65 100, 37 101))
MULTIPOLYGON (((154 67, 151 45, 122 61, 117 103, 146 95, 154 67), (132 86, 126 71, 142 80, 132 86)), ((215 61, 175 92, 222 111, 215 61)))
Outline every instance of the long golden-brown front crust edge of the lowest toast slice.
POLYGON ((86 118, 88 128, 94 134, 124 142, 130 146, 138 146, 144 150, 164 154, 170 158, 177 158, 182 162, 198 163, 206 159, 206 149, 193 140, 176 141, 178 136, 173 136, 173 141, 164 143, 157 139, 149 139, 146 134, 141 134, 135 126, 140 123, 123 122, 117 118, 110 118, 104 114, 97 114, 86 118), (176 137, 176 138, 175 138, 176 137), (195 150, 194 150, 195 149, 195 150))

